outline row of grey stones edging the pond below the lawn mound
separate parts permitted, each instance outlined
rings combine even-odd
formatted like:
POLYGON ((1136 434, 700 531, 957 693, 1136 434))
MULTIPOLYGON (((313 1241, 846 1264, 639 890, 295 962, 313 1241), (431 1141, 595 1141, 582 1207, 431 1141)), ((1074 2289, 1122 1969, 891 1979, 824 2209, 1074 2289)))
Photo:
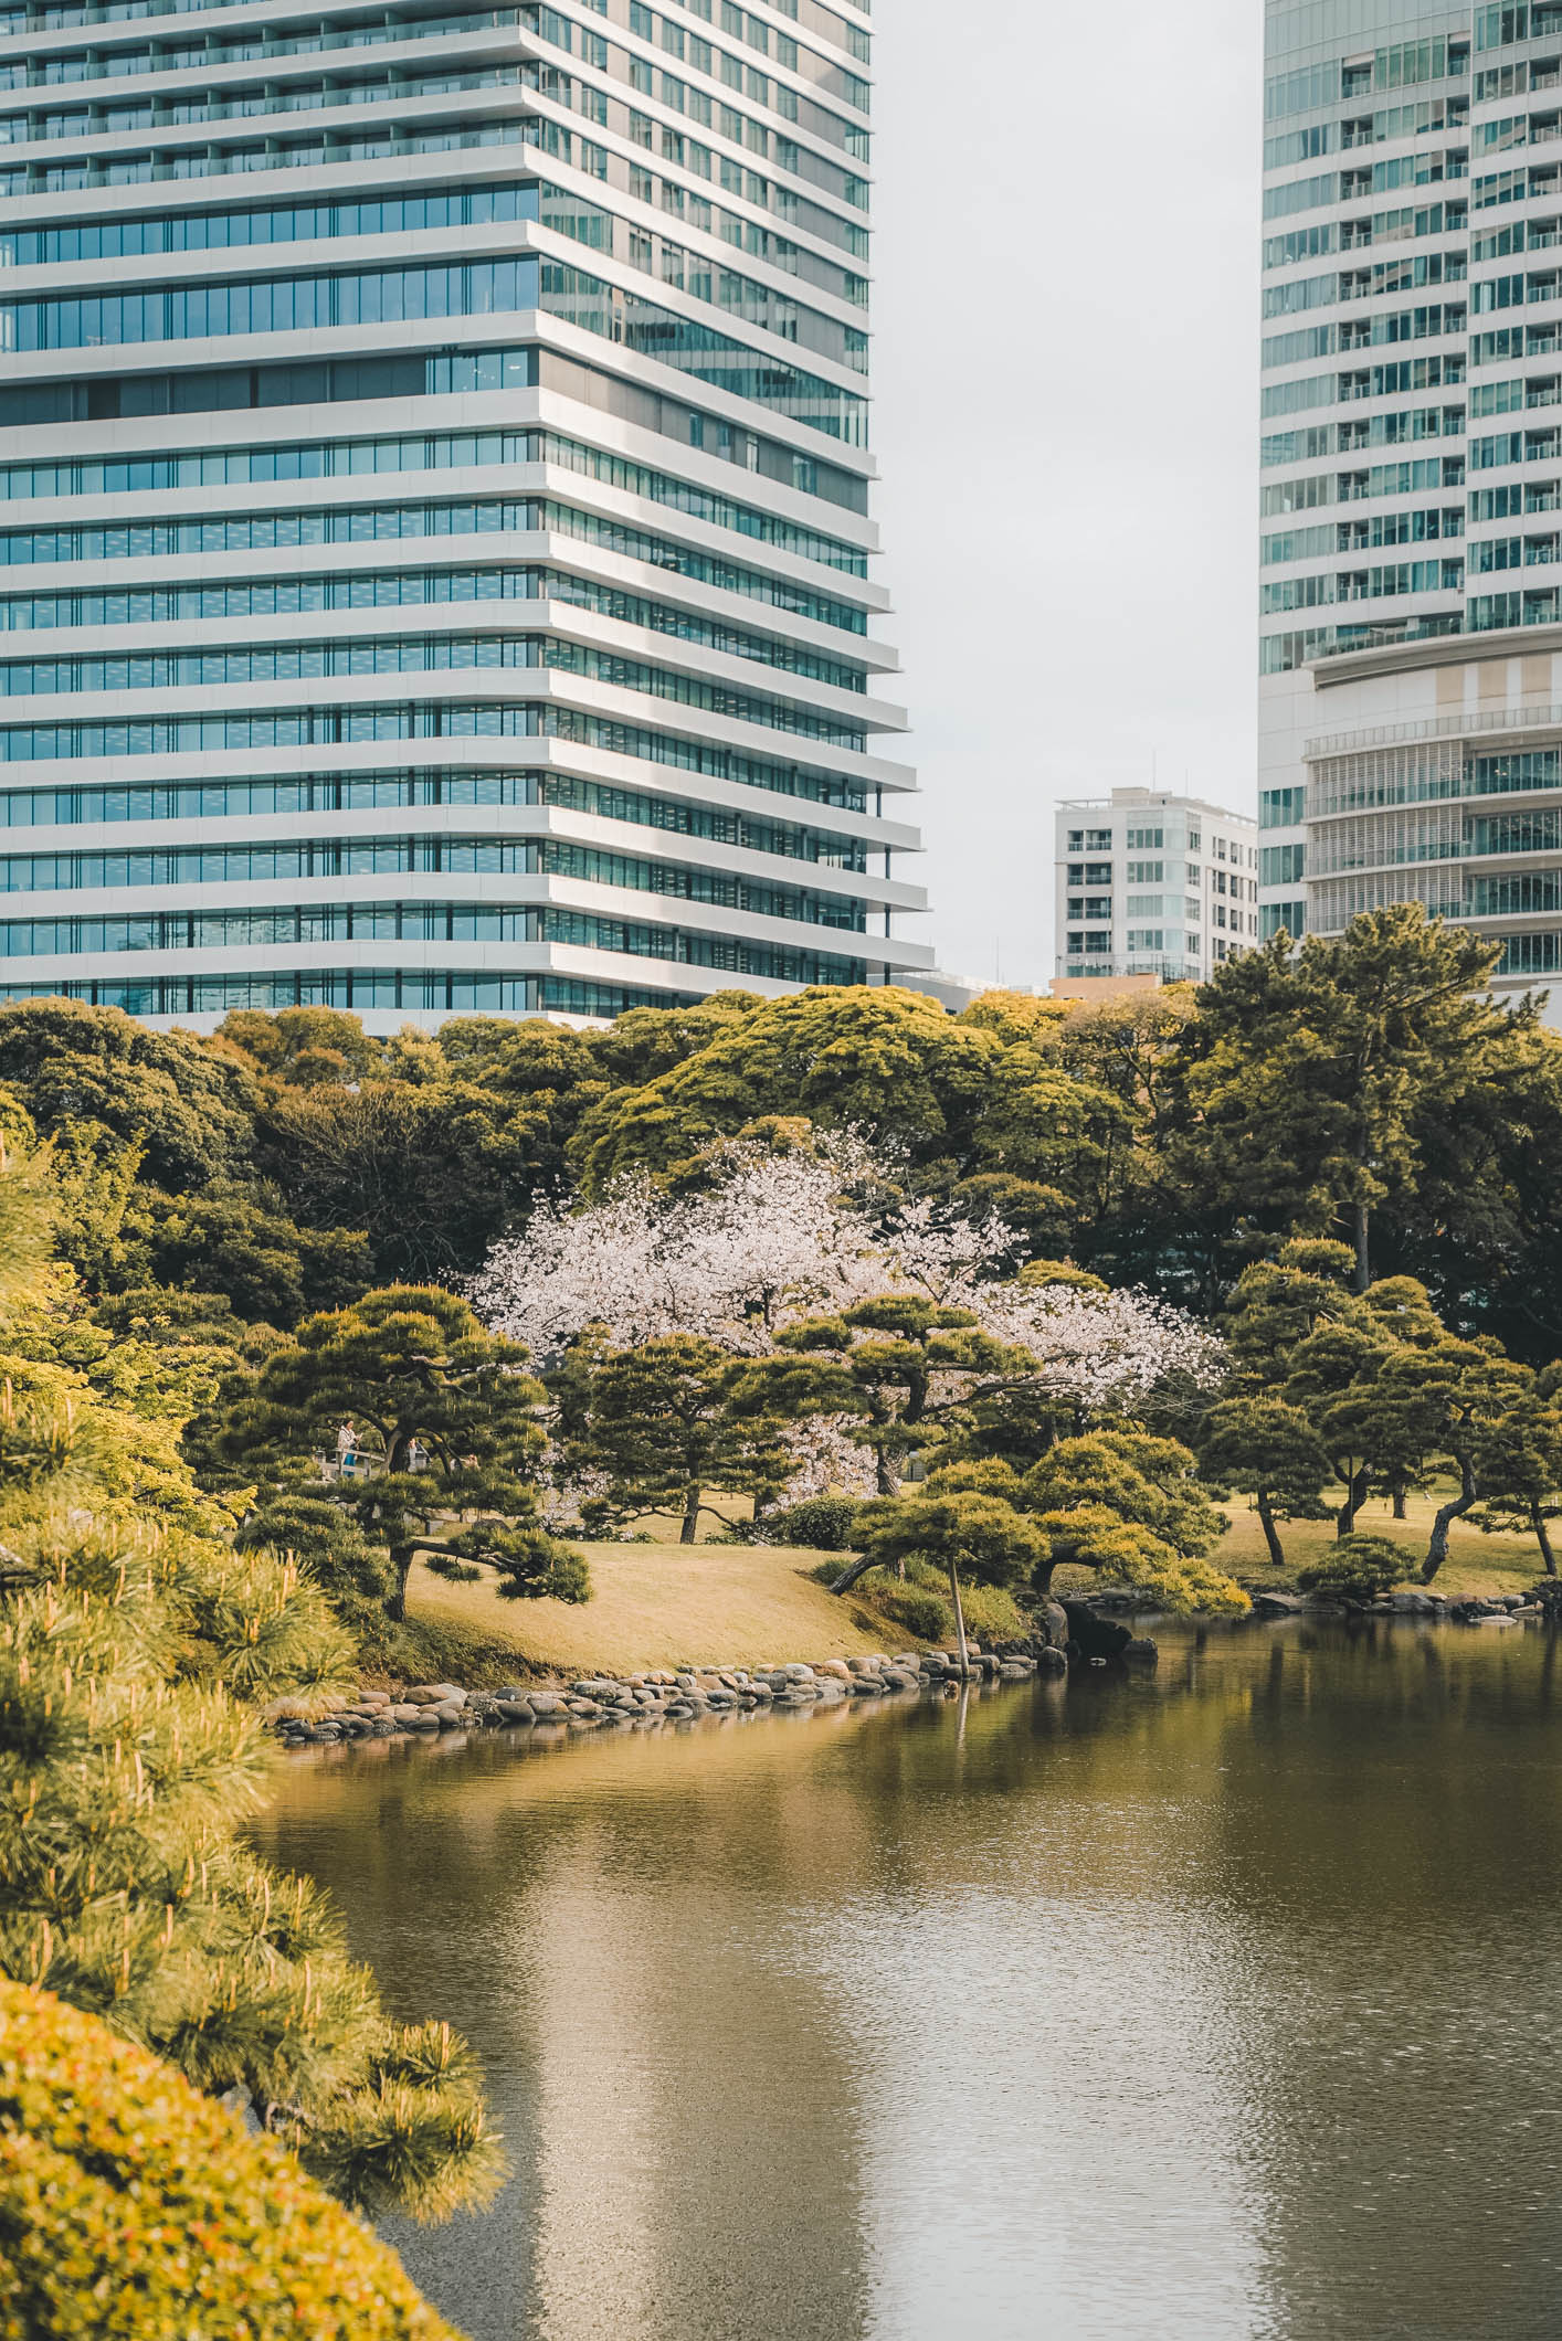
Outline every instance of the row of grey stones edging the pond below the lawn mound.
MULTIPOLYGON (((1066 1674, 1063 1650, 1044 1641, 1007 1641, 993 1650, 972 1648, 972 1678, 1026 1683, 1037 1674, 1066 1674)), ((410 1683, 365 1690, 328 1707, 276 1700, 267 1723, 288 1746, 321 1746, 340 1739, 405 1739, 419 1732, 471 1730, 473 1725, 548 1725, 604 1730, 625 1723, 693 1723, 700 1716, 773 1709, 803 1714, 852 1700, 892 1700, 916 1693, 944 1695, 960 1686, 953 1650, 902 1650, 897 1657, 794 1660, 785 1667, 691 1667, 625 1676, 581 1676, 574 1683, 503 1683, 499 1690, 461 1690, 459 1683, 410 1683)))

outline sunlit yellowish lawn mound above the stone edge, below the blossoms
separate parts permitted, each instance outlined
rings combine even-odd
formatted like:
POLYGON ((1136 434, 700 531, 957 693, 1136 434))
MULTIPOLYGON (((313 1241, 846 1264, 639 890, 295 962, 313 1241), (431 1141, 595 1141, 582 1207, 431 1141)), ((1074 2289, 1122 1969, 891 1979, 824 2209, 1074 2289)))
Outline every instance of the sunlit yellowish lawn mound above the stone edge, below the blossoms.
POLYGON ((749 1667, 754 1660, 906 1650, 916 1636, 836 1599, 810 1571, 822 1554, 792 1545, 588 1545, 590 1601, 501 1601, 494 1580, 447 1585, 415 1564, 415 1622, 508 1643, 518 1660, 590 1674, 597 1667, 749 1667))

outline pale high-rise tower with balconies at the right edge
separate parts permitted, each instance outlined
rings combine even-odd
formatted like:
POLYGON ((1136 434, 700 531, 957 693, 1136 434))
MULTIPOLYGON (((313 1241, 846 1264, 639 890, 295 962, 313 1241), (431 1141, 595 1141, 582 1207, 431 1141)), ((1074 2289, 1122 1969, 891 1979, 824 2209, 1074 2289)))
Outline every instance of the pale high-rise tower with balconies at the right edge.
POLYGON ((1562 5, 1267 0, 1262 929, 1562 974, 1562 5))

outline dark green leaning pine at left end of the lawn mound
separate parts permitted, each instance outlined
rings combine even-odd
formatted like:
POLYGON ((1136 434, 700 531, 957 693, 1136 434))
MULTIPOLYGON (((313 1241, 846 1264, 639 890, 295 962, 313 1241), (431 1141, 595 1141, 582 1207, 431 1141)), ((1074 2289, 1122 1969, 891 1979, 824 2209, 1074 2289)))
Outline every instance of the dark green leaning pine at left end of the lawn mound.
POLYGON ((307 1318, 227 1407, 213 1451, 276 1487, 314 1454, 335 1458, 351 1426, 365 1475, 323 1480, 321 1494, 389 1552, 391 1620, 405 1615, 419 1552, 438 1575, 492 1568, 508 1601, 583 1601, 585 1561, 536 1503, 543 1400, 525 1351, 485 1332, 454 1292, 389 1285, 307 1318))

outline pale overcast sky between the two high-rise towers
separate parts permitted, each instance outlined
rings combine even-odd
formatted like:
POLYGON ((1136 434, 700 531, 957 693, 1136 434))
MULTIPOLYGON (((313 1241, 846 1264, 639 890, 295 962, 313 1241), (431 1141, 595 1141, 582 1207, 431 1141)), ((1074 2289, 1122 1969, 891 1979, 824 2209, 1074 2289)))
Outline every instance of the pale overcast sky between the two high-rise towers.
POLYGON ((1155 770, 1253 808, 1262 5, 874 23, 878 574, 925 934, 1044 986, 1059 796, 1155 770))

